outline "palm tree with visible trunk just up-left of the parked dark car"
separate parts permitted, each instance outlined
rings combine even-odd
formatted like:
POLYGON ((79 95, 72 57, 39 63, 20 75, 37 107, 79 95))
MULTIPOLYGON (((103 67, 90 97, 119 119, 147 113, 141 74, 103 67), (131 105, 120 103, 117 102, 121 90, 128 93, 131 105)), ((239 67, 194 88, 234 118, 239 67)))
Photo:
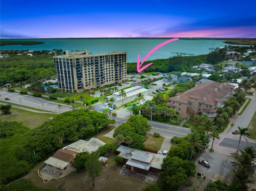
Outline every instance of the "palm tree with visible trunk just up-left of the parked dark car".
POLYGON ((192 160, 192 155, 196 153, 196 150, 203 150, 203 142, 200 140, 199 134, 192 133, 188 135, 188 139, 186 140, 187 146, 191 149, 190 153, 190 161, 192 160))

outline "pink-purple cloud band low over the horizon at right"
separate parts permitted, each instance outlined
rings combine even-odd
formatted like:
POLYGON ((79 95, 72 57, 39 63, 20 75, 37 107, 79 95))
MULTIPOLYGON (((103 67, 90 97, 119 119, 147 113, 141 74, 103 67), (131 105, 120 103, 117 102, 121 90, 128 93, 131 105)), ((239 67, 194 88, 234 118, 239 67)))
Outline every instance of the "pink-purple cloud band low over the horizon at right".
POLYGON ((255 27, 225 27, 175 32, 159 37, 255 38, 255 27))

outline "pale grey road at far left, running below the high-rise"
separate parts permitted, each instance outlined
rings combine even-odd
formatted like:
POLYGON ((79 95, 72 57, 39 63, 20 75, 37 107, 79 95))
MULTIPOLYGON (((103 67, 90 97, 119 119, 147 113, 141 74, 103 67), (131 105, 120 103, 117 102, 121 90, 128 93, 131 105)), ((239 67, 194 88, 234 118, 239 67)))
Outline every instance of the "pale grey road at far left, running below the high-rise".
MULTIPOLYGON (((51 111, 51 112, 57 112, 59 113, 58 103, 46 101, 45 99, 33 97, 31 95, 23 95, 19 93, 12 93, 7 91, 1 91, 0 92, 0 99, 5 102, 15 103, 19 105, 34 107, 36 109, 51 111), (5 100, 5 98, 8 97, 10 100, 5 100)), ((61 113, 66 111, 71 111, 72 107, 69 105, 61 105, 60 111, 61 113)))

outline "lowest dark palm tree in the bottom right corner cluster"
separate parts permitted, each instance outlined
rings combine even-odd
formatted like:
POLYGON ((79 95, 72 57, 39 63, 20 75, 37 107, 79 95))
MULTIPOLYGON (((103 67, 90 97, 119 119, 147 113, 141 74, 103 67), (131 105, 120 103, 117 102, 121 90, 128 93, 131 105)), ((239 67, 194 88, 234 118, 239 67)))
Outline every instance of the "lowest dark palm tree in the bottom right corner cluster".
POLYGON ((237 187, 239 191, 247 190, 247 184, 255 182, 255 180, 249 179, 249 177, 250 173, 248 173, 244 168, 233 170, 233 178, 238 182, 237 187))

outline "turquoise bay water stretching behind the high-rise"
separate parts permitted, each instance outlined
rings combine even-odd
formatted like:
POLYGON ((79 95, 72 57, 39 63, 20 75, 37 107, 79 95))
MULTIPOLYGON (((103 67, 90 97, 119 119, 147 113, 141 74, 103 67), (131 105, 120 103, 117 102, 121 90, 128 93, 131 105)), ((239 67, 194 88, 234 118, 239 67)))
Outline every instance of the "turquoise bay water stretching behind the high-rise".
MULTIPOLYGON (((39 45, 8 45, 1 49, 29 49, 34 51, 63 49, 63 51, 82 51, 88 49, 90 53, 108 53, 113 51, 125 51, 128 53, 127 62, 137 62, 140 54, 141 60, 155 46, 167 39, 8 39, 24 41, 43 41, 39 45)), ((147 60, 165 59, 174 55, 199 55, 207 54, 212 49, 225 46, 222 40, 205 39, 180 39, 169 43, 153 54, 147 60)))

